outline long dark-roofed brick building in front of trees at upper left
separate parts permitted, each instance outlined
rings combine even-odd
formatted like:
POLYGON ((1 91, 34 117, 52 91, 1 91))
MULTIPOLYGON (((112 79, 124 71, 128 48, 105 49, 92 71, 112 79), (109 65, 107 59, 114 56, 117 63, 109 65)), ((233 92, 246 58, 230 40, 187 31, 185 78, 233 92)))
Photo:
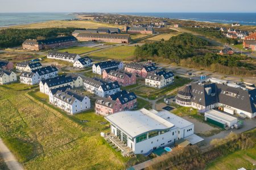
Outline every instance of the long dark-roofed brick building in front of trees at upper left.
POLYGON ((61 36, 54 39, 46 40, 31 40, 27 39, 23 42, 22 48, 28 50, 47 50, 53 48, 60 48, 69 45, 77 44, 77 39, 74 36, 61 36))

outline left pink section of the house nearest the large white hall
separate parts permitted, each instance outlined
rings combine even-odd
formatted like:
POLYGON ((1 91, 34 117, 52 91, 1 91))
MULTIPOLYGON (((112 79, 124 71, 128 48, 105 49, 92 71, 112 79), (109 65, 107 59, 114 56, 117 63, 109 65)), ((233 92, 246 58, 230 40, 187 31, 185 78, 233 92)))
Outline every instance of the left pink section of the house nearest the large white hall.
POLYGON ((114 100, 99 97, 95 102, 95 111, 97 114, 108 116, 109 114, 122 111, 122 106, 114 100))

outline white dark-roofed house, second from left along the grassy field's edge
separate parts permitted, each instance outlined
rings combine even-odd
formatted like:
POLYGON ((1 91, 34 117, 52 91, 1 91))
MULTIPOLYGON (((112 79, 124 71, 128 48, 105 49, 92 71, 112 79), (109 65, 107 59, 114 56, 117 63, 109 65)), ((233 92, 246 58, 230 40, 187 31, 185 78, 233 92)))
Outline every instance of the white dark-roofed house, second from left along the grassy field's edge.
POLYGON ((34 85, 41 80, 54 78, 58 75, 58 70, 54 66, 42 67, 41 69, 32 70, 31 73, 23 71, 20 74, 20 83, 34 85))

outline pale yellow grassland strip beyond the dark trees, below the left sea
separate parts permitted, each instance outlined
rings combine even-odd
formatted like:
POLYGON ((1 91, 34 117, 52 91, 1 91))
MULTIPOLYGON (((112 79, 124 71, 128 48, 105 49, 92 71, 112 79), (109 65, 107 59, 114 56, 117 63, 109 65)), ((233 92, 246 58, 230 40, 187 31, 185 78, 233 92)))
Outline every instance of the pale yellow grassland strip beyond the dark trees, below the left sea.
MULTIPOLYGON (((67 28, 67 27, 76 27, 76 28, 98 28, 98 27, 119 27, 121 25, 111 25, 105 23, 97 23, 92 21, 63 21, 63 20, 53 20, 49 22, 34 23, 34 24, 24 24, 24 25, 15 25, 8 28, 67 28)), ((3 27, 4 29, 7 27, 3 27)), ((0 29, 3 29, 0 28, 0 29)))

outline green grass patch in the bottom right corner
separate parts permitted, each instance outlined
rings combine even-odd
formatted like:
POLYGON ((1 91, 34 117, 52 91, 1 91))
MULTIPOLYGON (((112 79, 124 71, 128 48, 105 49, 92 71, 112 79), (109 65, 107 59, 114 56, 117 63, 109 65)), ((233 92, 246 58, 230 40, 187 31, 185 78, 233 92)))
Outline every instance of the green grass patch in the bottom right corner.
POLYGON ((217 158, 213 162, 210 162, 206 169, 209 170, 218 170, 218 169, 255 169, 255 165, 251 160, 256 160, 256 148, 249 150, 241 150, 234 152, 229 155, 223 155, 220 158, 217 158))

